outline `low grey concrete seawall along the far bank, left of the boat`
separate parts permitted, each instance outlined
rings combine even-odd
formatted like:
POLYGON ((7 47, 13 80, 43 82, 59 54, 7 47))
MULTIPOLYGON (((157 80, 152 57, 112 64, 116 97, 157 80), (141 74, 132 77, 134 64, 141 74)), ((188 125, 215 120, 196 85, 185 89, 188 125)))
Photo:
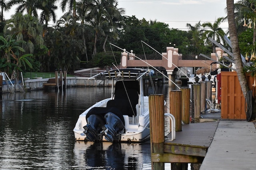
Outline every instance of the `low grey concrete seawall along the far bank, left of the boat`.
MULTIPOLYGON (((44 88, 44 83, 47 83, 49 78, 37 78, 24 80, 24 90, 42 90, 44 88)), ((15 86, 15 84, 13 84, 15 86)), ((20 83, 22 85, 22 83, 20 83)), ((10 84, 12 86, 12 84, 10 84)), ((88 77, 67 77, 67 87, 96 87, 96 86, 111 86, 111 80, 88 80, 88 77)), ((53 88, 54 86, 52 86, 53 88)), ((14 88, 14 87, 13 87, 14 88)), ((49 86, 48 86, 49 88, 49 86)), ((19 91, 18 85, 15 86, 14 91, 19 91)), ((8 85, 3 84, 2 92, 10 92, 8 85)))

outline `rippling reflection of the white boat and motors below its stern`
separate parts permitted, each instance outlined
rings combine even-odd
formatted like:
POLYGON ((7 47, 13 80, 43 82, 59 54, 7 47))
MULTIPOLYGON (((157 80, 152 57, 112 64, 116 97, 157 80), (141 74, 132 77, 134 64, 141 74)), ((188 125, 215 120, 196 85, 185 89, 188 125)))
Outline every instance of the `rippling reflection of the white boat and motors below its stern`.
POLYGON ((85 169, 151 170, 150 144, 76 141, 74 154, 85 169), (148 156, 145 156, 148 155, 148 156), (146 163, 148 162, 148 163, 146 163))

